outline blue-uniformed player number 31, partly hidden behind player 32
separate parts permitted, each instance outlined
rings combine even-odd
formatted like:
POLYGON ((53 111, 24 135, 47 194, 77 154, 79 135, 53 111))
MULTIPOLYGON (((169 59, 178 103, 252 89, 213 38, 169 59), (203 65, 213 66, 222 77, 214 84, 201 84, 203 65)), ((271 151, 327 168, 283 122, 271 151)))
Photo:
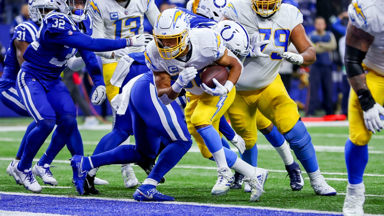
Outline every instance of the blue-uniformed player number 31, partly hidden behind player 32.
MULTIPOLYGON (((0 77, 0 100, 5 106, 11 110, 14 110, 18 115, 21 116, 30 115, 26 110, 26 107, 20 102, 20 97, 17 94, 16 77, 18 71, 20 70, 20 65, 24 62, 23 54, 25 49, 31 42, 35 40, 45 13, 55 9, 48 6, 48 3, 50 3, 50 0, 30 0, 28 8, 31 20, 20 23, 20 25, 15 28, 14 35, 11 39, 10 48, 7 50, 7 59, 5 60, 3 75, 0 77)), ((84 25, 89 26, 91 20, 84 20, 83 23, 88 23, 88 25, 84 25)), ((74 69, 76 69, 78 66, 79 61, 75 59, 76 58, 72 58, 69 60, 68 66, 70 68, 74 67, 74 69)), ((26 136, 28 136, 28 133, 33 128, 35 128, 35 126, 36 122, 32 121, 28 126, 25 135, 23 136, 15 160, 13 160, 7 167, 7 173, 12 175, 13 178, 15 178, 16 183, 20 185, 23 183, 14 172, 14 168, 17 166, 18 161, 20 161, 20 158, 22 157, 26 136)), ((81 142, 81 135, 77 127, 74 127, 71 138, 67 143, 67 147, 68 150, 70 150, 71 155, 83 155, 83 144, 81 142)), ((33 168, 33 173, 35 176, 37 175, 41 177, 45 184, 57 185, 57 181, 55 178, 53 178, 50 171, 49 164, 46 166, 44 165, 45 164, 39 166, 39 163, 36 163, 33 168)))

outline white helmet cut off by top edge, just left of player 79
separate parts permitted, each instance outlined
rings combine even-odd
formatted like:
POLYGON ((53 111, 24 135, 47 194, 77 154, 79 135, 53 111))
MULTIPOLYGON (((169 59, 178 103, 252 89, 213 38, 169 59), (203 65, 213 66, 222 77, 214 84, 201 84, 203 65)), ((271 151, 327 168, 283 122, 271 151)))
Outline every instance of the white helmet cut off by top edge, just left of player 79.
POLYGON ((227 0, 195 0, 192 4, 192 12, 218 22, 223 16, 221 10, 225 6, 227 6, 227 0))

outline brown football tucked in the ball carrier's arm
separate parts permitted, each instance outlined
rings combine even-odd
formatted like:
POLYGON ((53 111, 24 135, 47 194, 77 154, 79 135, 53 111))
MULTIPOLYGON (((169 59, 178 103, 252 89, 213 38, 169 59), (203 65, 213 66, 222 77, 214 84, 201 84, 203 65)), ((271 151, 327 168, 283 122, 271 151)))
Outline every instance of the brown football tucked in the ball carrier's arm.
POLYGON ((221 85, 224 85, 228 80, 227 68, 220 65, 214 65, 205 68, 201 73, 201 82, 205 83, 209 88, 216 87, 215 83, 212 81, 213 78, 215 78, 221 85))

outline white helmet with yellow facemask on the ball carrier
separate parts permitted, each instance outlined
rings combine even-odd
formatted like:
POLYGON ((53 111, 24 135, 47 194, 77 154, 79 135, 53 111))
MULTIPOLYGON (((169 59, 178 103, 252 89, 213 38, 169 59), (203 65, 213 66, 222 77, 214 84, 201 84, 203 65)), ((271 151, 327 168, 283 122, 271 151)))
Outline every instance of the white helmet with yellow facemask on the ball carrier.
POLYGON ((184 52, 189 42, 189 29, 189 20, 181 10, 170 8, 160 13, 153 28, 153 37, 162 58, 176 58, 184 52), (176 45, 164 46, 164 39, 175 39, 176 45))

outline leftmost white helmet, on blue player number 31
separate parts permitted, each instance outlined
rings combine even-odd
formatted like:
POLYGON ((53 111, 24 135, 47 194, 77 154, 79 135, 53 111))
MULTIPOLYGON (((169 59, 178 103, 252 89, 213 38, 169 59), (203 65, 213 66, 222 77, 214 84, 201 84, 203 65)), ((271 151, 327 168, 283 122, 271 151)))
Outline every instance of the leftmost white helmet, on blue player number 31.
POLYGON ((56 10, 56 5, 51 0, 29 0, 28 9, 31 20, 35 23, 41 23, 43 17, 51 10, 56 10))

